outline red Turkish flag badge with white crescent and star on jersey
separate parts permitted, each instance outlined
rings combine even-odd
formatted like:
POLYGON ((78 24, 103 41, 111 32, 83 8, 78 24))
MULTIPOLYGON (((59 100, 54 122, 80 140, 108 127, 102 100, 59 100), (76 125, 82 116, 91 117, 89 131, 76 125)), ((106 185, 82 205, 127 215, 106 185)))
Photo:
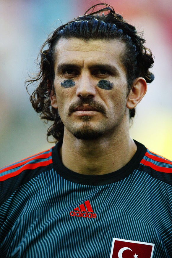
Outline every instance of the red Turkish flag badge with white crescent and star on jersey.
POLYGON ((113 238, 110 258, 152 258, 154 244, 113 238))

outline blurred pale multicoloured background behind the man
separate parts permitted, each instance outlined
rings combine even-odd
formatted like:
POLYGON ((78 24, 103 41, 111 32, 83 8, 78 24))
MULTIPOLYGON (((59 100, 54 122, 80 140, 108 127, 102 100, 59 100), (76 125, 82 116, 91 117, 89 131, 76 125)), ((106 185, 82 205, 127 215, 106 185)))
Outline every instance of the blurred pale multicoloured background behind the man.
MULTIPOLYGON (((47 35, 100 1, 0 0, 0 167, 50 148, 47 125, 33 110, 24 86, 47 35)), ((172 1, 107 0, 145 31, 155 55, 155 80, 137 106, 133 139, 172 160, 172 1)), ((29 91, 34 90, 30 86, 29 91)))

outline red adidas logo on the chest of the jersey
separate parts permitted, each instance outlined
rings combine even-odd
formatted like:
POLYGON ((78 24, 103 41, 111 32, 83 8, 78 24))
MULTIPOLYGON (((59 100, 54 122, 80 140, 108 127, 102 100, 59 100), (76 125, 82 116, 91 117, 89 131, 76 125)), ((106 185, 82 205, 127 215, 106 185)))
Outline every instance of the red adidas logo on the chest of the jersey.
POLYGON ((70 216, 83 217, 83 218, 96 218, 97 215, 94 213, 90 202, 85 201, 84 203, 85 203, 87 210, 85 209, 84 204, 81 204, 81 205, 79 205, 79 207, 75 208, 74 211, 70 212, 70 216), (80 210, 79 210, 79 208, 80 208, 80 210))

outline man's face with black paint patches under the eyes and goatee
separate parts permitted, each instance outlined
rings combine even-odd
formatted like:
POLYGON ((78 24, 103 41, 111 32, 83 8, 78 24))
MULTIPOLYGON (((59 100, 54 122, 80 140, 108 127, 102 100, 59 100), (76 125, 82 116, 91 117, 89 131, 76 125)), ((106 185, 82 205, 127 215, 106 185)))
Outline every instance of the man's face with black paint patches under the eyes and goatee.
POLYGON ((95 139, 126 125, 129 110, 123 52, 124 44, 117 40, 59 40, 51 105, 58 108, 64 133, 95 139))

